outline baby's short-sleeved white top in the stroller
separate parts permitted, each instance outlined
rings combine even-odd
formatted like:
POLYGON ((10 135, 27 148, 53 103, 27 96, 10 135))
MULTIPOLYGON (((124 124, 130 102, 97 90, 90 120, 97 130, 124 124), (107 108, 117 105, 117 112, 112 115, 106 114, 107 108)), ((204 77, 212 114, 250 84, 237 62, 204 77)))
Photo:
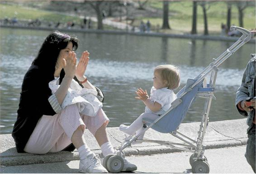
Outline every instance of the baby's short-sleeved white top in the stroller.
POLYGON ((156 89, 154 86, 152 86, 149 99, 151 99, 152 102, 161 104, 161 109, 157 112, 153 112, 146 106, 145 113, 155 113, 157 115, 161 115, 171 107, 171 103, 177 99, 177 96, 174 94, 173 90, 167 89, 167 87, 156 89))

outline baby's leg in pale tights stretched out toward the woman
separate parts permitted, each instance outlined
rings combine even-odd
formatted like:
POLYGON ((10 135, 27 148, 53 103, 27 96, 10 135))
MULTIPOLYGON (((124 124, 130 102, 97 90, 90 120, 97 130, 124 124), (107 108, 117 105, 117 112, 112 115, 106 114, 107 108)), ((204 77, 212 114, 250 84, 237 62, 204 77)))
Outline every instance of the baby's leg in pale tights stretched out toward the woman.
POLYGON ((151 120, 156 120, 159 116, 154 113, 142 113, 130 126, 125 126, 121 124, 119 126, 120 131, 127 133, 129 135, 135 134, 135 132, 143 127, 143 118, 149 118, 151 120))

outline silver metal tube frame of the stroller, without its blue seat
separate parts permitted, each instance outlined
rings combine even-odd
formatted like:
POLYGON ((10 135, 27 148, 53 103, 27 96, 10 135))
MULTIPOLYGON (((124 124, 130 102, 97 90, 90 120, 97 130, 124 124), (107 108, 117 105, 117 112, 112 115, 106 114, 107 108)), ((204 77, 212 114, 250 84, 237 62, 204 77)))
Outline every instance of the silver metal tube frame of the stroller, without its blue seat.
MULTIPOLYGON (((122 143, 121 146, 119 146, 119 150, 116 156, 121 156, 123 155, 123 150, 131 146, 133 141, 137 142, 152 142, 152 143, 158 143, 160 145, 164 146, 169 146, 178 150, 182 151, 188 151, 192 152, 193 154, 190 156, 190 165, 192 166, 192 172, 193 173, 209 173, 209 164, 207 161, 207 158, 204 156, 204 150, 205 146, 203 145, 204 141, 204 135, 206 133, 206 129, 209 123, 209 112, 210 112, 210 107, 211 107, 211 102, 212 99, 216 100, 214 96, 214 88, 215 88, 215 82, 217 78, 217 73, 218 73, 218 66, 220 66, 226 59, 228 59, 229 56, 234 54, 240 47, 242 47, 246 42, 250 41, 251 39, 251 33, 247 29, 241 28, 241 27, 236 27, 236 26, 231 26, 231 30, 238 30, 239 32, 242 33, 242 36, 232 44, 231 47, 229 47, 225 52, 223 52, 218 58, 213 59, 213 62, 209 64, 200 74, 195 78, 194 84, 188 86, 186 88, 186 85, 183 89, 181 89, 181 94, 180 96, 177 96, 177 99, 175 99, 174 102, 171 103, 171 108, 166 111, 166 113, 162 114, 159 118, 157 118, 155 121, 148 120, 147 118, 144 118, 142 121, 147 122, 147 127, 140 132, 138 135, 131 135, 128 136, 122 143), (172 109, 176 108, 177 106, 182 103, 182 99, 180 99, 182 96, 187 94, 190 90, 194 88, 194 86, 198 85, 199 83, 202 83, 202 81, 206 81, 205 77, 207 75, 210 75, 210 80, 209 84, 203 85, 203 88, 199 88, 199 93, 196 94, 197 97, 205 99, 205 104, 204 104, 204 111, 203 111, 203 117, 201 120, 201 124, 199 127, 199 132, 198 132, 198 137, 197 141, 193 140, 192 138, 184 135, 181 132, 178 132, 176 128, 175 131, 169 132, 172 136, 175 136, 176 138, 180 139, 184 143, 175 143, 171 141, 157 141, 157 140, 152 140, 150 138, 144 138, 142 140, 137 139, 140 135, 142 135, 144 132, 146 132, 149 128, 152 128, 158 121, 160 121, 162 118, 166 116, 167 113, 169 113, 172 109), (183 91, 182 91, 183 90, 183 91), (133 137, 134 136, 134 137, 133 137)), ((180 92, 179 92, 180 93, 180 92)), ((189 106, 190 107, 190 106, 189 106)), ((109 158, 107 157, 106 160, 109 158)), ((105 162, 105 164, 108 161, 105 162)), ((111 170, 109 168, 110 165, 107 166, 107 169, 110 172, 113 173, 118 173, 121 171, 118 170, 111 170)), ((116 164, 112 164, 112 166, 119 166, 116 164)))

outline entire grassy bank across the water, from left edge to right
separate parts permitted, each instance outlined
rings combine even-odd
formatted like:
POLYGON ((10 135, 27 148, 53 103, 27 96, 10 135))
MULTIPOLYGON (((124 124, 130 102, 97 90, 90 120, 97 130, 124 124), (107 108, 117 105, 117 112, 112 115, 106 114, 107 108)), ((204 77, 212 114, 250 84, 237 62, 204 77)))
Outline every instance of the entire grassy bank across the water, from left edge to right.
MULTIPOLYGON (((8 1, 7 1, 8 2, 8 1)), ((14 1, 13 1, 14 2, 14 1)), ((68 21, 73 21, 76 24, 80 25, 82 19, 77 16, 66 15, 69 14, 69 11, 72 11, 74 6, 76 6, 81 12, 82 15, 87 16, 96 16, 95 11, 90 8, 90 6, 86 6, 83 3, 77 3, 75 1, 66 1, 65 3, 62 1, 56 1, 55 4, 57 6, 53 6, 53 4, 48 1, 19 1, 19 3, 1 3, 0 4, 0 17, 3 18, 13 18, 17 16, 19 20, 34 20, 40 19, 42 21, 52 21, 53 23, 61 22, 62 24, 66 24, 68 21), (80 6, 79 6, 80 5, 80 6), (29 7, 28 7, 29 6, 29 7), (32 8, 33 7, 33 8, 32 8), (47 9, 47 10, 44 10, 47 9), (52 11, 50 11, 51 9, 52 11), (62 11, 63 13, 56 12, 55 10, 62 11), (54 10, 54 11, 53 11, 54 10), (65 14, 65 13, 66 14, 65 14)), ((208 6, 207 6, 208 7, 208 6)), ((137 10, 132 5, 128 7, 129 17, 133 17, 135 20, 133 22, 133 26, 138 27, 140 22, 143 20, 147 22, 150 20, 152 24, 152 30, 156 30, 161 28, 162 25, 162 1, 153 1, 150 0, 147 2, 146 10, 137 10), (145 13, 148 9, 155 9, 157 11, 156 14, 145 13), (133 13, 134 12, 134 13, 133 13)), ((251 30, 256 27, 256 11, 255 6, 247 7, 244 10, 244 28, 251 30)), ((125 15, 125 14, 123 14, 125 15)), ((221 23, 226 24, 226 15, 227 15, 227 4, 224 1, 212 1, 209 5, 209 9, 207 10, 208 15, 208 29, 209 34, 219 34, 221 32, 221 23)), ((232 5, 232 19, 231 24, 238 26, 238 10, 236 5, 232 5)), ((114 16, 115 19, 119 19, 118 14, 116 13, 114 16)), ((122 22, 125 23, 125 20, 122 22)), ((169 24, 171 30, 162 30, 160 32, 163 33, 190 33, 192 28, 192 1, 170 1, 169 3, 169 24)), ((96 28, 96 23, 93 23, 93 28, 96 28)), ((104 29, 114 29, 111 26, 104 25, 104 29)), ((197 9, 197 31, 199 34, 204 32, 204 19, 203 19, 203 10, 200 5, 198 5, 197 9)))

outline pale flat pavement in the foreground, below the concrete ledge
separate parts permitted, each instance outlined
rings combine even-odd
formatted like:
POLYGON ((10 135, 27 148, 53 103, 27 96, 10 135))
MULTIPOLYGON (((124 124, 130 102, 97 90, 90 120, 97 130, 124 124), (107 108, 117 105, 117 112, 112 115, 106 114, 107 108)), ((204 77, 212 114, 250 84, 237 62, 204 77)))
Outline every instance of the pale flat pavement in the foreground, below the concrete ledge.
MULTIPOLYGON (((211 174, 253 174, 244 153, 246 146, 233 146, 207 149, 204 155, 208 159, 211 174)), ((131 173, 191 173, 189 163, 191 153, 175 152, 156 155, 132 155, 126 159, 137 165, 131 173)), ((1 167, 0 173, 79 173, 79 160, 47 164, 18 165, 1 167)), ((80 173, 81 174, 81 173, 80 173)))

